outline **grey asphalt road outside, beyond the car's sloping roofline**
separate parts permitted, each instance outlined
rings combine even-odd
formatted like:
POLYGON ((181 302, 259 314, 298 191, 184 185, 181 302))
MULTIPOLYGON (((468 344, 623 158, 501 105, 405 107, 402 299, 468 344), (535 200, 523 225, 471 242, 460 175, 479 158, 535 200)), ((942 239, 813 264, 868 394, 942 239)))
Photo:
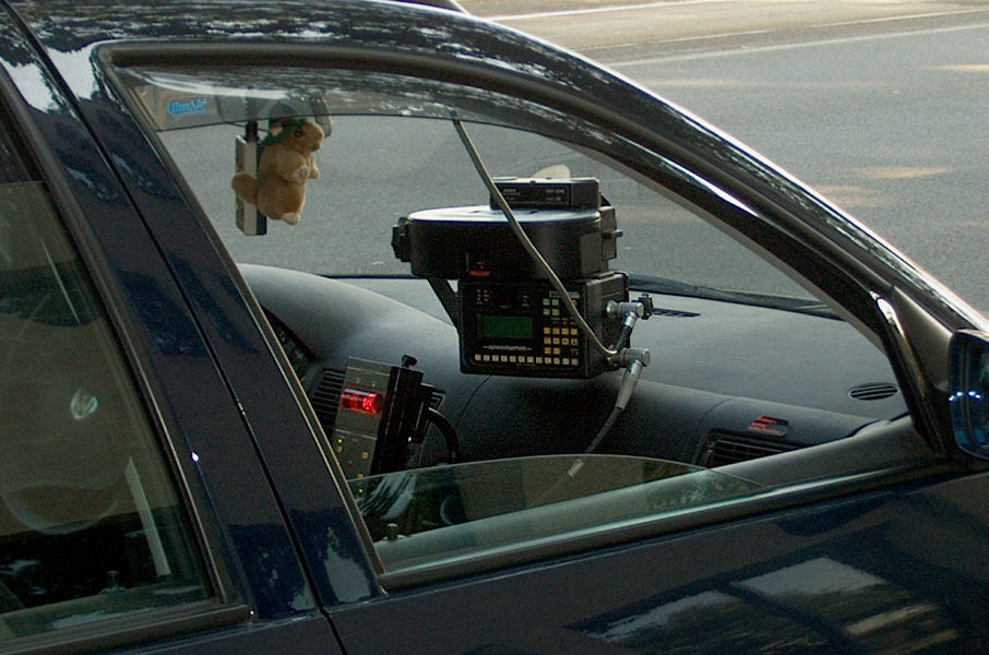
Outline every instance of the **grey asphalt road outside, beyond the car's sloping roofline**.
POLYGON ((989 4, 462 0, 604 61, 989 309, 989 4))

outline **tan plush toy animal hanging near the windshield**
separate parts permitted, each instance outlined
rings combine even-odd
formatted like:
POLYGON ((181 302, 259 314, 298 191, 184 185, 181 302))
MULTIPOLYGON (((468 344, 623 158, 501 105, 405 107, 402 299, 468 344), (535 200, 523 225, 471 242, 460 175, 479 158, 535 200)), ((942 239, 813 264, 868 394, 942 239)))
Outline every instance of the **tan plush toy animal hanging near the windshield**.
POLYGON ((238 172, 234 192, 270 218, 295 225, 306 204, 306 181, 320 176, 312 154, 323 144, 323 129, 307 118, 284 119, 261 142, 258 179, 238 172))

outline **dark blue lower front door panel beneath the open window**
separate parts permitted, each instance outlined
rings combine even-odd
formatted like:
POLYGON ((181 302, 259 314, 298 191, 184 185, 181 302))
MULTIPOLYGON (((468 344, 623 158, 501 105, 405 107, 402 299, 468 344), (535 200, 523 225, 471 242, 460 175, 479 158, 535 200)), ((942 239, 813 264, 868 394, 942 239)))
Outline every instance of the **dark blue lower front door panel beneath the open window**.
POLYGON ((965 652, 986 639, 989 586, 964 553, 986 550, 987 481, 407 590, 333 621, 349 654, 965 652))

